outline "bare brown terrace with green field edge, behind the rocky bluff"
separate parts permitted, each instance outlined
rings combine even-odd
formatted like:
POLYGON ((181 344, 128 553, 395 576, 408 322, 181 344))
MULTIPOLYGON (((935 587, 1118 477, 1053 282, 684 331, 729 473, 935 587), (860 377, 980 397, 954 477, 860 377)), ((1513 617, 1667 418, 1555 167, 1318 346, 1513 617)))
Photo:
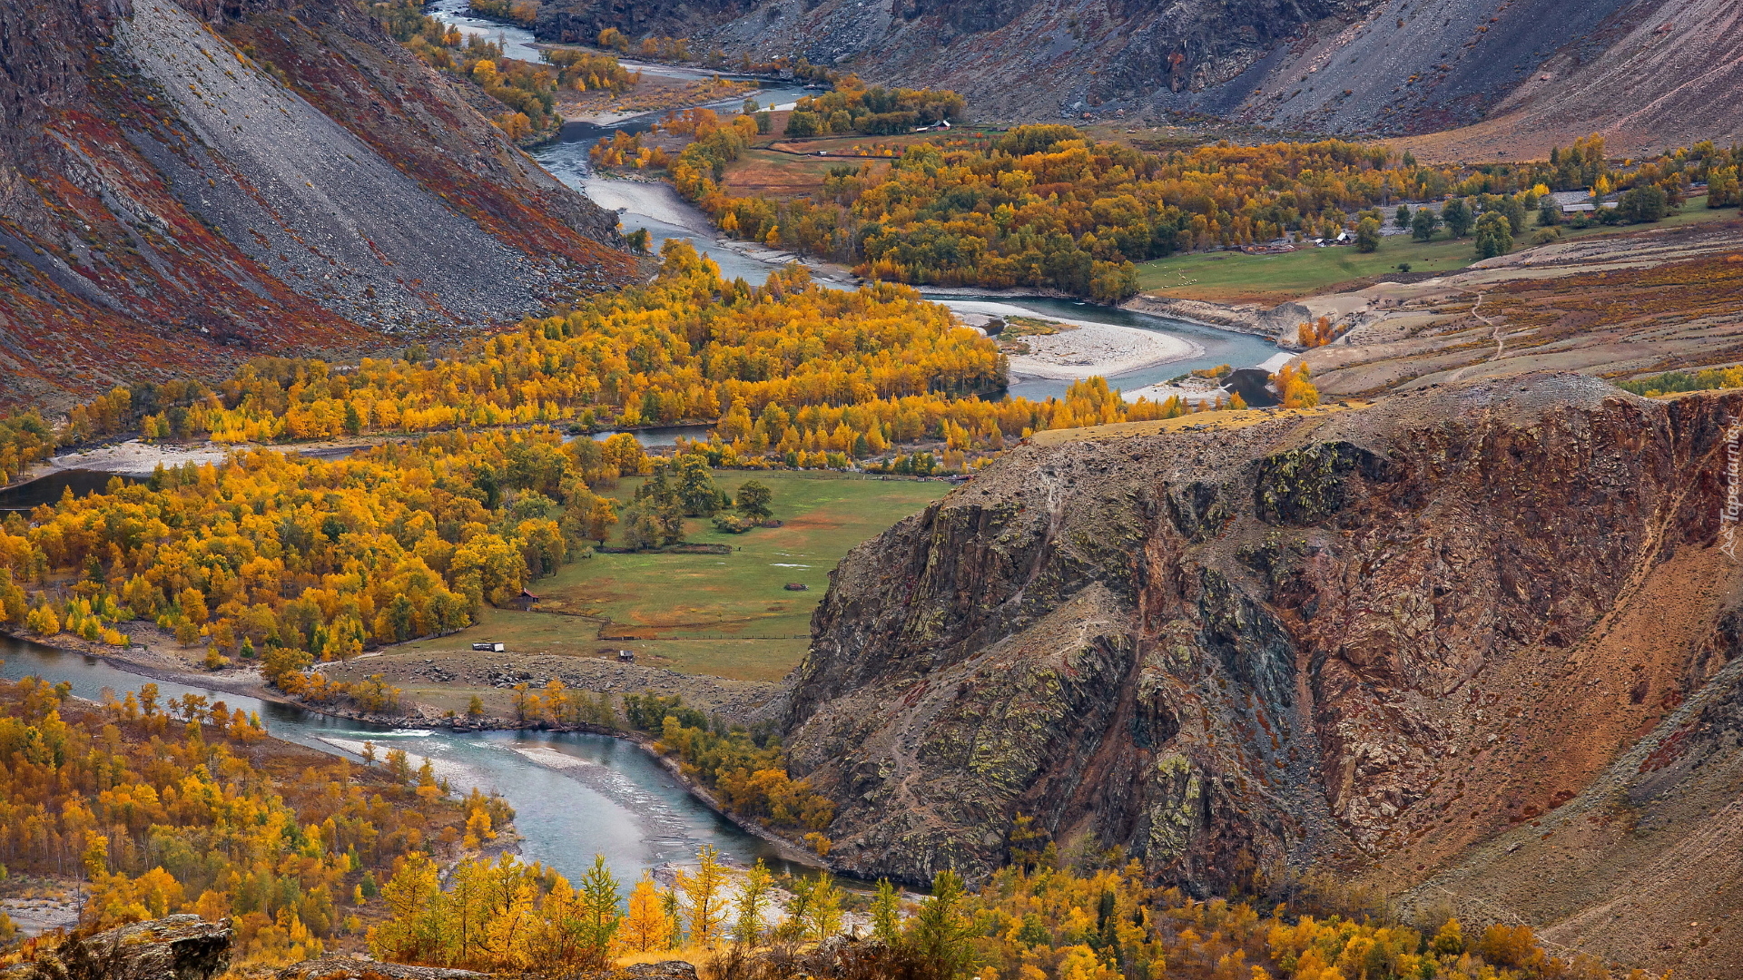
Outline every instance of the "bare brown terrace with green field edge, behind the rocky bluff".
MULTIPOLYGON (((1572 234, 1483 262, 1466 242, 1396 241, 1373 255, 1396 260, 1403 251, 1389 248, 1414 246, 1419 256, 1445 256, 1461 246, 1459 269, 1436 274, 1429 263, 1424 274, 1412 262, 1408 276, 1375 276, 1382 258, 1349 248, 1194 255, 1166 260, 1177 276, 1192 272, 1187 286, 1152 289, 1126 309, 1251 330, 1295 350, 1299 323, 1330 317, 1337 338, 1302 354, 1328 398, 1529 371, 1631 378, 1743 361, 1743 218, 1729 208, 1689 208, 1658 225, 1572 234), (1358 272, 1368 276, 1349 279, 1358 272)), ((1149 276, 1163 267, 1150 263, 1149 276)))

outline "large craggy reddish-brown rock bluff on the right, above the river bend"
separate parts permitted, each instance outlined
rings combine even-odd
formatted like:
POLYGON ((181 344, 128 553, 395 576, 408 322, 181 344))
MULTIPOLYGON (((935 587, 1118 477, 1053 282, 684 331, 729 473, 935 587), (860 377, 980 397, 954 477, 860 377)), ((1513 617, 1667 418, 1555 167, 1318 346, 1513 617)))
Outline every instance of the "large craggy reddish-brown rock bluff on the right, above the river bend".
POLYGON ((1419 882, 1740 652, 1740 412, 1530 375, 1042 432, 835 572, 790 713, 831 858, 985 874, 1028 814, 1203 891, 1419 882))

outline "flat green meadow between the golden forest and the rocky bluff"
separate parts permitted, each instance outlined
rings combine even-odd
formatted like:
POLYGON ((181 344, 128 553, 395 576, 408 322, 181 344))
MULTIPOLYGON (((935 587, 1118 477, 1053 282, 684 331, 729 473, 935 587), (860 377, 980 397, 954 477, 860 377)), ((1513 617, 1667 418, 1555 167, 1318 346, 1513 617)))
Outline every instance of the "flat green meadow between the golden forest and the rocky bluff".
MULTIPOLYGON (((479 623, 460 633, 387 645, 349 663, 319 664, 321 671, 345 682, 380 673, 404 689, 406 711, 425 722, 446 711, 464 715, 478 696, 488 720, 514 724, 514 684, 542 687, 551 678, 577 691, 617 696, 676 694, 704 711, 755 717, 804 657, 810 614, 842 556, 922 511, 950 485, 810 471, 737 471, 718 478, 727 492, 744 480, 772 487, 781 527, 734 535, 702 520, 687 521, 687 541, 723 544, 734 549, 730 555, 593 555, 532 582, 540 596, 532 609, 486 607, 479 623), (795 591, 788 584, 805 588, 795 591), (500 642, 507 652, 478 652, 474 642, 500 642), (621 663, 619 650, 631 650, 634 663, 621 663)), ((610 495, 624 506, 640 483, 640 478, 622 480, 610 495)), ((619 544, 615 535, 610 544, 619 544)), ((213 671, 204 666, 204 645, 183 647, 169 631, 139 621, 129 623, 125 633, 132 640, 125 649, 68 635, 49 642, 148 678, 288 701, 265 687, 256 664, 213 671)))

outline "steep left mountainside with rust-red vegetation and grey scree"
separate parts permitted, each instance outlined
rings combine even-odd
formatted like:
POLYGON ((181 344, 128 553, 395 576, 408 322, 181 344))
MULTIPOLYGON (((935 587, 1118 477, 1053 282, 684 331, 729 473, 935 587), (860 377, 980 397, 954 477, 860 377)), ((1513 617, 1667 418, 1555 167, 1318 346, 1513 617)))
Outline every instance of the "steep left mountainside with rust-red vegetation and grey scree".
POLYGON ((631 272, 614 216, 359 5, 9 3, 0 44, 0 403, 387 347, 631 272))

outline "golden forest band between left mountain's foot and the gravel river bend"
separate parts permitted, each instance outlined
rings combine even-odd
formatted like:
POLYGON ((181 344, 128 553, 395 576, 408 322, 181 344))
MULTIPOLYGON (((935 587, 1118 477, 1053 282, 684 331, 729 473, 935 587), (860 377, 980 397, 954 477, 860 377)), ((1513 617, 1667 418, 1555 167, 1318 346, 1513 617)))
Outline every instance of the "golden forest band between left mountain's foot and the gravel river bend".
MULTIPOLYGON (((659 277, 566 316, 469 342, 441 359, 256 359, 185 406, 138 415, 129 389, 75 410, 71 439, 127 431, 218 443, 364 432, 570 424, 582 429, 718 422, 736 464, 828 466, 922 438, 999 448, 1042 429, 1161 419, 1088 382, 1065 399, 990 401, 1006 384, 997 345, 898 284, 826 289, 802 267, 763 286, 723 281, 683 241, 659 277)), ((716 460, 716 466, 720 462, 716 460)), ((624 471, 631 473, 631 471, 624 471)))

